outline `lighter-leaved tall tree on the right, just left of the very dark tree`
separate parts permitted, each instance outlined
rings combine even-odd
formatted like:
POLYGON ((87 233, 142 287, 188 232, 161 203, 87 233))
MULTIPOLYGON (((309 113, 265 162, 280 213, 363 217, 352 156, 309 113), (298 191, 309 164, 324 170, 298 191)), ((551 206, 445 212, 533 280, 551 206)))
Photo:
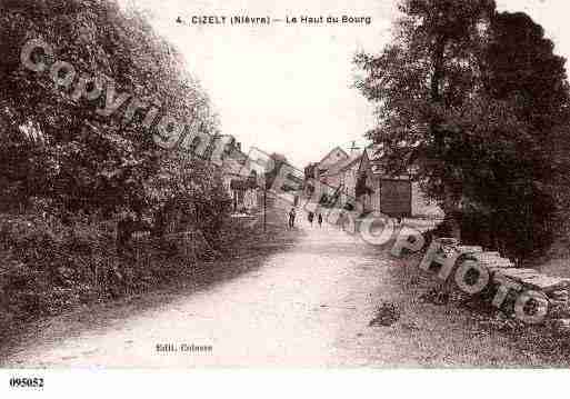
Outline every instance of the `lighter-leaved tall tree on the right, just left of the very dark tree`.
POLYGON ((400 159, 419 164, 417 179, 441 201, 454 236, 462 179, 449 162, 456 157, 451 124, 477 90, 473 54, 493 8, 487 0, 401 1, 393 43, 379 57, 356 59, 367 72, 357 87, 378 103, 379 127, 371 136, 392 150, 390 170, 401 168, 394 164, 400 159))

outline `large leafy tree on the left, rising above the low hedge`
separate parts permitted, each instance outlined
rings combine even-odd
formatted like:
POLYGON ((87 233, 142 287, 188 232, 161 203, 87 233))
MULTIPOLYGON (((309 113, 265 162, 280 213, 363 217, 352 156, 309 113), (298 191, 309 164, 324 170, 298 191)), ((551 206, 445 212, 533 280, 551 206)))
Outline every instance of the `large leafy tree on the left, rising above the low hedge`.
MULTIPOLYGON (((0 176, 8 188, 0 192, 7 208, 26 208, 42 198, 62 218, 80 210, 106 217, 127 210, 151 218, 160 206, 157 198, 178 190, 178 177, 167 171, 184 158, 156 144, 156 124, 144 123, 151 104, 157 104, 157 121, 168 114, 180 122, 199 121, 204 132, 217 129, 209 99, 178 51, 140 12, 122 10, 114 0, 3 0, 0 52, 0 127, 9 137, 0 160, 11 166, 0 176), (53 48, 47 63, 73 66, 72 84, 54 88, 48 71, 22 66, 20 54, 30 39, 53 48), (86 90, 107 92, 94 100, 74 97, 83 76, 89 78, 86 90), (107 104, 109 84, 129 100, 107 117, 98 110, 107 104), (128 117, 134 99, 146 104, 128 117), (164 177, 171 177, 168 184, 164 177)), ((202 182, 197 174, 194 183, 202 182)))

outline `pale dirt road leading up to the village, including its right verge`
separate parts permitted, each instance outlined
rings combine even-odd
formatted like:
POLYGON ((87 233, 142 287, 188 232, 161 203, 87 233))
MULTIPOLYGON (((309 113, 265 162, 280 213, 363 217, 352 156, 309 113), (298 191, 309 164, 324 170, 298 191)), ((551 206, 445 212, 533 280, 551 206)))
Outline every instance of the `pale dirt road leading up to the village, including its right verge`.
POLYGON ((298 242, 231 279, 198 290, 136 298, 110 310, 78 312, 72 320, 54 318, 16 348, 3 366, 563 363, 481 327, 454 305, 421 302, 429 279, 413 266, 402 267, 387 251, 331 226, 311 228, 302 221, 300 229, 304 235, 298 242), (369 327, 382 301, 398 303, 400 319, 390 327, 369 327), (169 343, 178 350, 158 350, 169 343))

